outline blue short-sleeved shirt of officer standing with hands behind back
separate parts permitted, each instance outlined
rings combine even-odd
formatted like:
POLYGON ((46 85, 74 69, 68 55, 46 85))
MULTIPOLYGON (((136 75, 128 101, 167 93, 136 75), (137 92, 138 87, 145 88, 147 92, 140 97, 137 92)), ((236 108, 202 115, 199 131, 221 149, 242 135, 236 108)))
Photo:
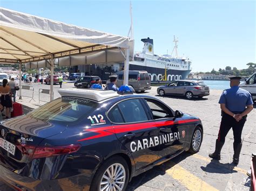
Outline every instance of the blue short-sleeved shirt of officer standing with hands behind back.
POLYGON ((228 110, 232 112, 243 112, 246 105, 252 105, 252 96, 249 91, 233 86, 223 91, 219 103, 225 103, 228 110))

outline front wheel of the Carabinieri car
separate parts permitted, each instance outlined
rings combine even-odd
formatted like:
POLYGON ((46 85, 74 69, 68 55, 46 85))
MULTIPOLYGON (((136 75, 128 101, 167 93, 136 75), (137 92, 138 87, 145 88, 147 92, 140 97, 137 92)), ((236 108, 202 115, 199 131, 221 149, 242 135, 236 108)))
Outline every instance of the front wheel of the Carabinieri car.
POLYGON ((202 140, 203 140, 203 131, 200 128, 200 126, 196 126, 192 135, 190 149, 188 151, 191 153, 197 153, 200 150, 202 140))

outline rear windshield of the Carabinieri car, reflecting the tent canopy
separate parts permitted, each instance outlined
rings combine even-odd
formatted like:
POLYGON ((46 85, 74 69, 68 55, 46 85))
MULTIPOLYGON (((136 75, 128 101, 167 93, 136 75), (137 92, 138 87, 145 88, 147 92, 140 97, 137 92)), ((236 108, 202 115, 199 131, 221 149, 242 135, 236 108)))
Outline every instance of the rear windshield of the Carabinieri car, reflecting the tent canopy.
POLYGON ((28 117, 45 122, 72 124, 84 119, 98 108, 98 103, 90 100, 62 97, 49 102, 28 114, 28 117))

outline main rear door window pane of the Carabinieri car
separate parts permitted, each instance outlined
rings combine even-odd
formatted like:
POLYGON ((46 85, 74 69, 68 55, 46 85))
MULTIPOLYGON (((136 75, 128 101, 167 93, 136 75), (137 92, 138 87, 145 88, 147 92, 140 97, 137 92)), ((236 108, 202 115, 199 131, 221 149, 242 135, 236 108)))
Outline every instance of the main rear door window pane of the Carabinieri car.
POLYGON ((118 107, 122 112, 124 121, 126 123, 143 122, 149 120, 139 99, 125 100, 118 103, 118 107))

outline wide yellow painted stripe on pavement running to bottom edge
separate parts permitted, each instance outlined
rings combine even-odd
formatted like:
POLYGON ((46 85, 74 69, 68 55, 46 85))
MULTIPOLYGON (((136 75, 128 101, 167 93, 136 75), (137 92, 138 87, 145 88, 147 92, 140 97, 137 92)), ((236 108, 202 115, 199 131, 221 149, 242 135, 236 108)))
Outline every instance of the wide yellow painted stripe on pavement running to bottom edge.
MULTIPOLYGON (((171 162, 173 163, 173 162, 171 162)), ((188 172, 185 168, 174 164, 173 167, 166 171, 167 174, 171 175, 173 179, 178 180, 181 184, 183 184, 189 190, 218 190, 213 186, 209 185, 205 181, 199 179, 197 176, 188 172)))

